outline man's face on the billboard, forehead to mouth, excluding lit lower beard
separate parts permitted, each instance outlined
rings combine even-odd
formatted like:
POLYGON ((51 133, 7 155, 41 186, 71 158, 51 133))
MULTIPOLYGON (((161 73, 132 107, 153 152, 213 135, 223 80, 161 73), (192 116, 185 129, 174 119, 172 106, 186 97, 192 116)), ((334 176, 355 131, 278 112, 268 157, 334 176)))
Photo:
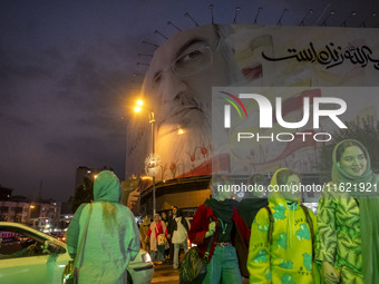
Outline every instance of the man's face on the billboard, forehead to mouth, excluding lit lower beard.
POLYGON ((213 26, 182 32, 154 55, 147 74, 147 96, 158 108, 158 130, 186 129, 196 117, 208 116, 212 85, 229 82, 227 66, 218 52, 220 37, 213 26), (216 71, 215 71, 216 70, 216 71))

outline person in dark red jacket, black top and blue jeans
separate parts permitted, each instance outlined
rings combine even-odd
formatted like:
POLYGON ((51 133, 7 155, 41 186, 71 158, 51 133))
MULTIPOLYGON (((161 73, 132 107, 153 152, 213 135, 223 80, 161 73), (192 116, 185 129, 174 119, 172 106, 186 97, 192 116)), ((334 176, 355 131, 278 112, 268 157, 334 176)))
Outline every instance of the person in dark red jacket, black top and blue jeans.
POLYGON ((237 202, 231 199, 231 193, 225 189, 226 184, 231 182, 225 177, 213 177, 212 198, 198 206, 191 224, 190 241, 197 244, 201 257, 213 239, 203 283, 237 284, 242 283, 242 273, 249 276, 246 247, 250 229, 236 209, 237 202))

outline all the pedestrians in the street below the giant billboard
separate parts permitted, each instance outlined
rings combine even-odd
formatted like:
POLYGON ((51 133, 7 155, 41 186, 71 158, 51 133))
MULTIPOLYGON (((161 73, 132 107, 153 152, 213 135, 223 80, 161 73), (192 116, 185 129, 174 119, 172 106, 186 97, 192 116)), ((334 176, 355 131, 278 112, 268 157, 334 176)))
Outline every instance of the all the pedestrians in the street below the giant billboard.
MULTIPOLYGON (((91 278, 126 283, 125 268, 139 244, 156 264, 167 262, 179 268, 187 238, 197 245, 201 257, 207 254, 203 283, 242 283, 243 277, 250 283, 379 283, 379 194, 375 190, 379 176, 357 140, 339 143, 332 161, 318 216, 301 203, 299 190, 270 192, 239 203, 232 192, 220 190, 220 185, 233 180, 214 176, 212 196, 191 224, 173 206, 168 214, 155 214, 153 222, 145 216, 139 232, 132 212, 119 204, 118 178, 101 172, 94 184, 94 203, 78 208, 67 231, 69 254, 80 254, 79 283, 91 278), (346 190, 348 185, 360 190, 346 190)), ((270 183, 257 174, 249 183, 291 189, 300 185, 301 175, 281 168, 270 183)))

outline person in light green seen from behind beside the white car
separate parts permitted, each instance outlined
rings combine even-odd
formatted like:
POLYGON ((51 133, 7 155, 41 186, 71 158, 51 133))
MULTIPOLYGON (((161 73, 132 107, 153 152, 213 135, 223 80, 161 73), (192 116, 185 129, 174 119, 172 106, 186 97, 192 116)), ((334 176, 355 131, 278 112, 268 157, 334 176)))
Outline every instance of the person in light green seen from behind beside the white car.
POLYGON ((79 257, 79 284, 127 283, 126 267, 139 252, 139 233, 133 213, 119 203, 120 198, 117 176, 100 172, 94 182, 94 203, 80 205, 68 226, 66 243, 70 256, 79 257), (82 237, 82 251, 77 252, 82 237))

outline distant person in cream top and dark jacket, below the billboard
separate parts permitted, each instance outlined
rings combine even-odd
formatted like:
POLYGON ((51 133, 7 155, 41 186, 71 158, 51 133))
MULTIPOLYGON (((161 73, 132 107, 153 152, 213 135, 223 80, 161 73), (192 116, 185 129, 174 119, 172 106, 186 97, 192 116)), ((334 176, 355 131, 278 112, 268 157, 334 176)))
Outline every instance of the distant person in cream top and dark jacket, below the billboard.
POLYGON ((188 223, 182 216, 181 212, 176 206, 173 206, 173 216, 168 223, 168 237, 171 237, 171 242, 173 244, 173 266, 174 268, 179 267, 179 252, 181 245, 183 247, 184 253, 187 252, 187 234, 188 234, 188 223))

